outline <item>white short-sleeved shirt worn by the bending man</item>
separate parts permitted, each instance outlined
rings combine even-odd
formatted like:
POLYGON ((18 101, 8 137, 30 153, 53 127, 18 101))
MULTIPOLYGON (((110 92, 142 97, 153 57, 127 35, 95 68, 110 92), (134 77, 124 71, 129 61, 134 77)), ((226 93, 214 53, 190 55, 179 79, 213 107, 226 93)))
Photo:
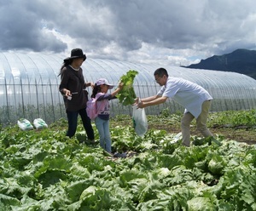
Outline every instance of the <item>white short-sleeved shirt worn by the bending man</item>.
POLYGON ((160 88, 157 95, 175 100, 185 108, 185 112, 190 112, 195 118, 201 114, 202 103, 212 100, 206 89, 179 77, 168 77, 166 86, 160 88))

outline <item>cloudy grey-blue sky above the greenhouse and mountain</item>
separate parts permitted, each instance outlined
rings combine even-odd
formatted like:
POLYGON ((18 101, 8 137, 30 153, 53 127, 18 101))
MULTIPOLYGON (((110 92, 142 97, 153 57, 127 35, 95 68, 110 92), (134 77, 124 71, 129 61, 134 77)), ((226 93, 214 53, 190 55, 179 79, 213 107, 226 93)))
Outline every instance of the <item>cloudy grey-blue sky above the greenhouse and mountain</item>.
MULTIPOLYGON (((187 66, 256 49, 255 0, 0 0, 0 50, 187 66)), ((63 58, 64 59, 64 58, 63 58)))

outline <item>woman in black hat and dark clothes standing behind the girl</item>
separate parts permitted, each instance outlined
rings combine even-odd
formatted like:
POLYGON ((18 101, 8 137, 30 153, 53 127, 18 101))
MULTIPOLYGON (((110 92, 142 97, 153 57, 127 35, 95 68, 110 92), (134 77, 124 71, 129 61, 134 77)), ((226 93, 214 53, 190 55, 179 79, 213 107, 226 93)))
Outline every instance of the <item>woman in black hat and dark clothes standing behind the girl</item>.
POLYGON ((76 133, 78 116, 80 115, 88 139, 94 141, 94 131, 86 113, 88 92, 85 90, 86 87, 93 87, 94 84, 84 82, 81 68, 84 60, 86 60, 86 55, 82 49, 74 48, 71 51, 71 56, 65 59, 61 66, 59 90, 63 95, 67 112, 68 129, 66 135, 71 138, 76 133))

